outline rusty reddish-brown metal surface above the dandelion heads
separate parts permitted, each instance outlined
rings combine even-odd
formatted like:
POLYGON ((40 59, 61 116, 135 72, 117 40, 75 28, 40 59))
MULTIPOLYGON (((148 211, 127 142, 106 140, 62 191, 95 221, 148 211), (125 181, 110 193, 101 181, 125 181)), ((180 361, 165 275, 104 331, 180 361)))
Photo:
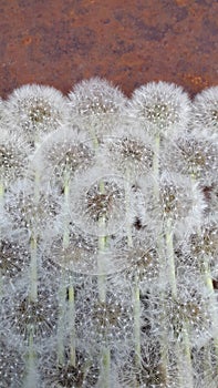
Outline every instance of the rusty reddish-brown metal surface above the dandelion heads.
POLYGON ((128 95, 152 80, 195 94, 218 83, 217 20, 217 0, 0 0, 0 94, 93 75, 128 95))

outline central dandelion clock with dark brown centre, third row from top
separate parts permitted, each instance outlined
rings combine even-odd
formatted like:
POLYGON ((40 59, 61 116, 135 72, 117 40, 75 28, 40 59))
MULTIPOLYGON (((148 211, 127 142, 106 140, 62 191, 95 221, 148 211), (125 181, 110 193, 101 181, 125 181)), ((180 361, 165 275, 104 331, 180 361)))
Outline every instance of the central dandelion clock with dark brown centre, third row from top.
MULTIPOLYGON (((124 231, 126 191, 123 177, 112 171, 90 169, 72 181, 69 201, 72 221, 85 233, 105 236, 124 231), (74 191, 76 187, 76 191, 74 191), (104 219, 104 226, 101 221, 104 219)), ((133 204, 133 201, 131 202, 133 204)), ((134 208, 132 211, 134 216, 134 208)))

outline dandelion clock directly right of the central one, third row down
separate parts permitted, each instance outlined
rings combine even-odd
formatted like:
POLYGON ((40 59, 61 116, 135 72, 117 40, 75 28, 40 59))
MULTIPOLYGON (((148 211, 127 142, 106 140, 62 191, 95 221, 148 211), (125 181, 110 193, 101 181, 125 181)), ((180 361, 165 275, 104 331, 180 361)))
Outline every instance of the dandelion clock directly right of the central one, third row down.
POLYGON ((143 205, 146 206, 150 225, 157 228, 163 223, 170 223, 170 227, 180 236, 190 234, 201 225, 206 204, 199 185, 190 177, 164 172, 158 180, 158 201, 154 188, 157 181, 153 176, 138 180, 137 184, 144 195, 143 205))

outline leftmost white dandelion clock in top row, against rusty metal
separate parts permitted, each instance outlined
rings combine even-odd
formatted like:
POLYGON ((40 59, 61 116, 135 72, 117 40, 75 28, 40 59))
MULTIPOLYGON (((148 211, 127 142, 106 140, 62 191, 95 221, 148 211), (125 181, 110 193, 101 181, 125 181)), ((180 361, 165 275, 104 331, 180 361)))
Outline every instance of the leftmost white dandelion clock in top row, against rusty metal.
POLYGON ((66 99, 51 86, 27 84, 15 89, 6 102, 7 125, 12 132, 21 132, 31 145, 68 123, 66 99))

